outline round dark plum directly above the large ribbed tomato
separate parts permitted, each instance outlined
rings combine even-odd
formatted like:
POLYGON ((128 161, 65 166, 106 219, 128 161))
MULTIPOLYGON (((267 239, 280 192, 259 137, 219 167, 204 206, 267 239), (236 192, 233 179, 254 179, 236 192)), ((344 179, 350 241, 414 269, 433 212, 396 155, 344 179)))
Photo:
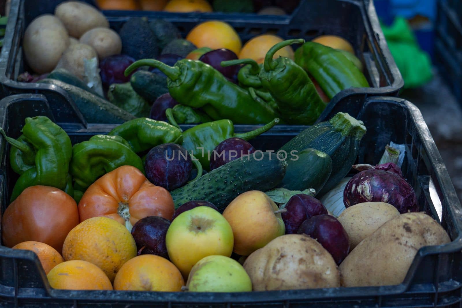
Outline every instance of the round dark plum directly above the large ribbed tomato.
POLYGON ((146 155, 147 179, 169 191, 186 183, 192 169, 192 159, 181 145, 165 143, 153 147, 146 155))

